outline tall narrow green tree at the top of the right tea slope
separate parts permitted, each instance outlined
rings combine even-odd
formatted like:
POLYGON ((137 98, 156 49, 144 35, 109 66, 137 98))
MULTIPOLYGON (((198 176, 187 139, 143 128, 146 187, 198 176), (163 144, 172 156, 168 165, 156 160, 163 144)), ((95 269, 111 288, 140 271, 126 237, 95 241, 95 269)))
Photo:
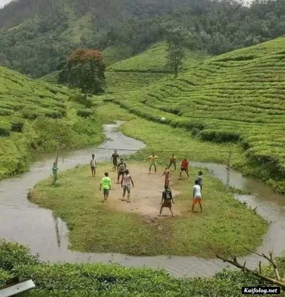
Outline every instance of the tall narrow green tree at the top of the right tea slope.
POLYGON ((181 70, 184 52, 184 34, 180 28, 172 29, 167 32, 167 66, 174 73, 175 78, 181 70))

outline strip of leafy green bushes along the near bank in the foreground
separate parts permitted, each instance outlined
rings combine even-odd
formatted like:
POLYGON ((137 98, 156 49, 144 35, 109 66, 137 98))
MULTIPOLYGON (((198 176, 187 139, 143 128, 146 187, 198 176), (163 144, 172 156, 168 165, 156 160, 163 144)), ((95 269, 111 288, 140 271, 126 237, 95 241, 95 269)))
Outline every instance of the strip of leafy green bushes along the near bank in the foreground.
MULTIPOLYGON (((276 258, 283 271, 285 258, 276 258)), ((271 266, 263 273, 274 277, 271 266)), ((244 286, 270 286, 240 271, 223 270, 212 278, 174 278, 163 270, 125 268, 115 264, 50 264, 40 262, 29 249, 0 242, 0 284, 7 278, 32 278, 36 289, 25 297, 237 297, 244 286), (64 272, 64 273, 62 273, 64 272)))

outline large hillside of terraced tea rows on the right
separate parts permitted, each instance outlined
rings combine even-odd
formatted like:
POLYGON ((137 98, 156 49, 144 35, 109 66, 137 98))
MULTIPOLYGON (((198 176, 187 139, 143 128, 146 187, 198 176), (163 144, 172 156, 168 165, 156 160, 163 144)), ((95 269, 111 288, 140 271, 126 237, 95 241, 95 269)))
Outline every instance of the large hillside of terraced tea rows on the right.
POLYGON ((177 79, 120 94, 114 101, 148 119, 165 117, 166 123, 192 129, 204 141, 239 143, 248 158, 236 166, 285 192, 284 48, 281 37, 213 57, 177 79))

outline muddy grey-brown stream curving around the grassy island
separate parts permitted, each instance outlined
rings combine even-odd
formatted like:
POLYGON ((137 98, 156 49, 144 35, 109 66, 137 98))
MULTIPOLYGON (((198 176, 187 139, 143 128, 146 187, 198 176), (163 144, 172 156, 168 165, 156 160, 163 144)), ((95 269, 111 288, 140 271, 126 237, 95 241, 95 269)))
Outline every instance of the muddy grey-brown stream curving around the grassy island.
MULTIPOLYGON (((105 133, 109 139, 101 148, 144 148, 142 142, 126 137, 116 131, 117 125, 106 125, 105 133)), ((72 168, 77 164, 88 164, 90 155, 95 153, 99 161, 110 159, 111 151, 96 148, 83 148, 64 152, 59 163, 60 170, 72 168)), ((121 151, 129 154, 130 151, 121 151)), ((146 266, 164 268, 176 276, 210 276, 226 267, 217 260, 204 260, 197 257, 133 257, 123 254, 96 254, 74 252, 68 249, 68 230, 66 224, 53 215, 52 211, 40 208, 27 200, 27 189, 46 179, 51 174, 54 154, 42 154, 37 157, 29 172, 0 182, 0 238, 14 240, 39 252, 42 260, 68 262, 110 261, 125 266, 146 266)), ((221 180, 226 181, 226 167, 215 163, 192 162, 192 166, 208 168, 221 180)), ((285 249, 285 197, 273 194, 263 184, 244 178, 239 172, 231 172, 231 184, 254 195, 239 195, 236 198, 246 201, 251 207, 271 222, 269 232, 264 238, 259 252, 274 249, 281 254, 285 249)), ((255 266, 259 258, 255 255, 243 257, 249 266, 255 266)))

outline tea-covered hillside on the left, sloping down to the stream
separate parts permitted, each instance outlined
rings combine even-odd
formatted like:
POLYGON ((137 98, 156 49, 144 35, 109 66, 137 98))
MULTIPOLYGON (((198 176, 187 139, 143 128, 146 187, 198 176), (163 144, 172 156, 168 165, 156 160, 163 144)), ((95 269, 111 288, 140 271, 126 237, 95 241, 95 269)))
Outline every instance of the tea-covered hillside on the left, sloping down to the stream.
POLYGON ((26 170, 34 153, 54 150, 58 139, 65 146, 102 141, 98 121, 77 116, 85 107, 71 95, 0 66, 0 179, 26 170))

